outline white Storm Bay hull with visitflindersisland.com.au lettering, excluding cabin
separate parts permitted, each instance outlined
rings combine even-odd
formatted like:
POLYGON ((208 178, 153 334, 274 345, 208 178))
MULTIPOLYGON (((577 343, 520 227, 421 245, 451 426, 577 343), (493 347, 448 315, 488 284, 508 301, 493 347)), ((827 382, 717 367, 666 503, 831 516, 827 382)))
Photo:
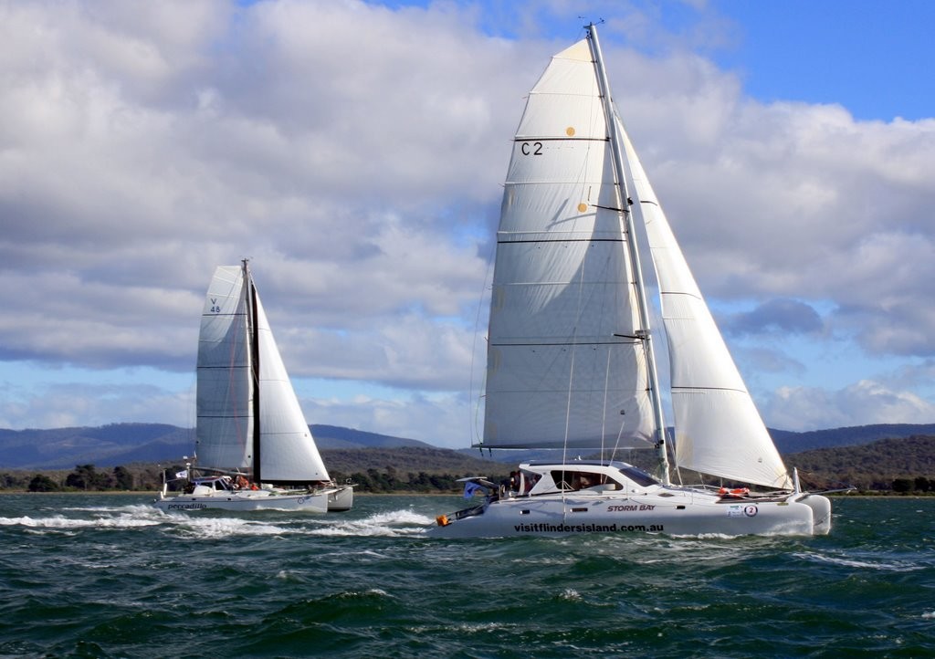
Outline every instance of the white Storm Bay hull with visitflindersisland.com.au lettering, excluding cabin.
POLYGON ((455 513, 442 522, 447 524, 429 527, 428 535, 813 536, 830 531, 831 504, 827 497, 818 494, 792 494, 770 501, 725 500, 705 492, 679 492, 665 497, 543 495, 494 500, 485 507, 455 513))

